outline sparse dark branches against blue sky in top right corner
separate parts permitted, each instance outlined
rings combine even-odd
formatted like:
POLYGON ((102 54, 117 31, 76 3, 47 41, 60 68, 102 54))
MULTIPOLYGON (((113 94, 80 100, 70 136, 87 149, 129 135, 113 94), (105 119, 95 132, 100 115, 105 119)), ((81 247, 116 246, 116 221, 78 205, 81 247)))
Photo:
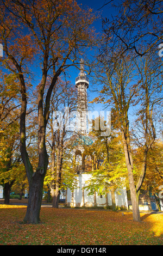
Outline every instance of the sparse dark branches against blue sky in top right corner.
POLYGON ((162 1, 122 0, 113 5, 117 15, 103 19, 110 47, 115 49, 122 44, 122 53, 134 51, 137 56, 150 55, 151 50, 158 49, 158 55, 162 48, 162 1))

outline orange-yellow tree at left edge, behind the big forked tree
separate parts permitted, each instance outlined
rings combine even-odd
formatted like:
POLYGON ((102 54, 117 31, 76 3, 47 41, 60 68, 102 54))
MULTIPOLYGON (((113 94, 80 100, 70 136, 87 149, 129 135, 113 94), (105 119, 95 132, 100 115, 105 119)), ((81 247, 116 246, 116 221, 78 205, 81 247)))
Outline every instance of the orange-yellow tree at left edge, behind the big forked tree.
POLYGON ((0 74, 0 168, 4 203, 9 204, 10 190, 15 181, 13 176, 11 178, 10 170, 20 162, 20 158, 15 156, 18 151, 20 97, 14 78, 2 70, 0 74))

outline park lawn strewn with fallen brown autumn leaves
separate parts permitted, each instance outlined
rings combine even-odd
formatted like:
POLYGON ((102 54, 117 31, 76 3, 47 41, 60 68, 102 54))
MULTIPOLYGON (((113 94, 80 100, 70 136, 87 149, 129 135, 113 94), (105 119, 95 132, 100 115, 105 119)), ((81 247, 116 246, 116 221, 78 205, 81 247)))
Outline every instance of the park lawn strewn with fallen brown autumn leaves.
POLYGON ((163 245, 163 214, 41 208, 40 224, 24 224, 27 206, 0 205, 0 245, 163 245))

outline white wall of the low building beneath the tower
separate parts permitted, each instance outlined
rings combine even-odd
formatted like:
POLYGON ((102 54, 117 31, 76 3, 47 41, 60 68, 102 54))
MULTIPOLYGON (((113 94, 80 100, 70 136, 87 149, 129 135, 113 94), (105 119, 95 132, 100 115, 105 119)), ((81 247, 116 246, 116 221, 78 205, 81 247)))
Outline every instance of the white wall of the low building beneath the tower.
MULTIPOLYGON (((91 207, 94 206, 94 195, 89 196, 89 191, 82 189, 86 186, 86 181, 91 178, 91 174, 78 174, 76 179, 78 180, 78 187, 72 194, 71 190, 67 189, 67 205, 73 207, 91 207), (73 200, 72 200, 73 197, 73 200)), ((121 194, 115 193, 115 201, 116 206, 120 206, 123 208, 128 209, 128 202, 127 202, 127 193, 125 189, 119 190, 121 194)), ((106 198, 103 195, 102 197, 96 193, 96 205, 97 206, 105 206, 106 205, 106 198)), ((111 202, 111 193, 108 193, 108 205, 112 205, 111 202)))

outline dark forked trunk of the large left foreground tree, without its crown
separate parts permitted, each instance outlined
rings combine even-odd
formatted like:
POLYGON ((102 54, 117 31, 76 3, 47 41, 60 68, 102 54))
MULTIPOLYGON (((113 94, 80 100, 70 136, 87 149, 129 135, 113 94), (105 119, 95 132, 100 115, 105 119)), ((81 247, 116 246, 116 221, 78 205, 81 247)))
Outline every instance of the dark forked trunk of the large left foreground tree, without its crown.
MULTIPOLYGON (((29 161, 29 157, 26 151, 26 140, 23 138, 23 147, 22 147, 22 156, 25 153, 24 162, 26 166, 26 172, 29 182, 29 199, 28 199, 28 206, 26 216, 24 218, 24 222, 37 224, 40 222, 40 209, 41 209, 41 202, 42 202, 42 194, 43 194, 43 181, 45 178, 47 166, 48 166, 48 154, 46 151, 46 143, 45 143, 45 136, 46 136, 46 125, 48 120, 48 109, 49 106, 46 106, 47 117, 45 118, 43 114, 43 90, 46 83, 47 71, 47 59, 45 60, 44 68, 42 70, 42 80, 39 88, 38 93, 38 123, 39 123, 39 130, 38 130, 38 153, 39 153, 39 163, 36 169, 36 172, 33 172, 31 164, 27 165, 26 162, 29 161)), ((27 104, 27 99, 26 99, 27 104)), ((23 106, 23 103, 22 103, 23 106)), ((23 108, 22 108, 23 110, 23 108)), ((25 110, 23 111, 24 113, 25 110)), ((23 120, 25 121, 25 119, 23 120)), ((24 128, 24 136, 26 135, 26 124, 23 125, 24 128)), ((22 133, 23 135, 23 133, 22 133)))

